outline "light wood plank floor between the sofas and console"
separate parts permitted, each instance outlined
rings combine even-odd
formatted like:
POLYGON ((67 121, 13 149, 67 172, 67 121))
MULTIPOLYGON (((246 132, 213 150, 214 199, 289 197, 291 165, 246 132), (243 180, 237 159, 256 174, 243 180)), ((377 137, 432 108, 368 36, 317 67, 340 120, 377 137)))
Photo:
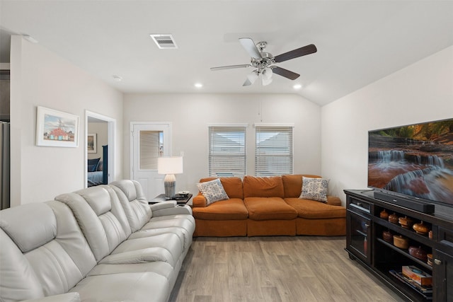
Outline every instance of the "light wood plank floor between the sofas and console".
POLYGON ((194 238, 170 301, 403 301, 345 237, 194 238))

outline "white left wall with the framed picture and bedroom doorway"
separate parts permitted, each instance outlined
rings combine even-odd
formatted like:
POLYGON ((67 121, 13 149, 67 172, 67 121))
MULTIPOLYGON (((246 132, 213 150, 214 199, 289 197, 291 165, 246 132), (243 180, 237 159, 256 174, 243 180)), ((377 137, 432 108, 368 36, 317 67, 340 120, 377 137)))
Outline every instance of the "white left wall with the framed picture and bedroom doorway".
POLYGON ((115 179, 122 178, 122 93, 39 44, 11 38, 11 206, 85 186, 85 110, 117 120, 115 179), (79 147, 35 146, 36 108, 79 116, 79 147))

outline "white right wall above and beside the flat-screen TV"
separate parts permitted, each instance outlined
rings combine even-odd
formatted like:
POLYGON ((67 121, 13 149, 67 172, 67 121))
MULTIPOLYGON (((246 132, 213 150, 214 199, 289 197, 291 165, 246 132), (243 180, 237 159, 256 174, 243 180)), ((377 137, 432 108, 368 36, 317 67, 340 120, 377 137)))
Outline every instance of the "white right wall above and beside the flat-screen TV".
POLYGON ((332 194, 367 187, 368 131, 453 117, 453 46, 321 110, 322 175, 332 194))

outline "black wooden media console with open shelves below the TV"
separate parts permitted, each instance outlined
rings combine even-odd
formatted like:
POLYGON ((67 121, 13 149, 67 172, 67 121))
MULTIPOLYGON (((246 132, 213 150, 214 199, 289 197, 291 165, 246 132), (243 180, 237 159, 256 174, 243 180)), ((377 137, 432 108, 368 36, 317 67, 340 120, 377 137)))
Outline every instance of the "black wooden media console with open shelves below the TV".
MULTIPOLYGON (((347 206, 346 250, 350 258, 373 272, 386 286, 407 301, 453 301, 453 217, 426 214, 406 209, 391 202, 375 199, 372 191, 345 190, 347 206), (413 228, 403 228, 380 217, 380 212, 423 221, 432 236, 416 233, 413 228), (422 248, 432 254, 432 266, 413 257, 408 249, 398 248, 382 239, 384 231, 401 235, 408 246, 422 248), (401 267, 411 265, 432 275, 432 292, 425 293, 398 279, 391 270, 401 272, 401 267)), ((437 207, 437 206, 436 206, 437 207)))

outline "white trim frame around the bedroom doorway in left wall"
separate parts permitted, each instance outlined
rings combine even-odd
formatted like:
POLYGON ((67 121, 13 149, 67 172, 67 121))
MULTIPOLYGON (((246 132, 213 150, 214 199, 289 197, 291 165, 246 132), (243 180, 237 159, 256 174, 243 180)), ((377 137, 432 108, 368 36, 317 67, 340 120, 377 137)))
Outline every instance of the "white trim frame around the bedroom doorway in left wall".
POLYGON ((95 118, 96 120, 102 120, 107 122, 108 127, 108 183, 113 182, 113 178, 115 175, 115 137, 116 137, 116 120, 112 117, 108 117, 106 115, 101 115, 96 112, 92 112, 89 110, 85 110, 85 187, 88 187, 88 152, 86 150, 86 146, 88 146, 88 117, 95 118))

